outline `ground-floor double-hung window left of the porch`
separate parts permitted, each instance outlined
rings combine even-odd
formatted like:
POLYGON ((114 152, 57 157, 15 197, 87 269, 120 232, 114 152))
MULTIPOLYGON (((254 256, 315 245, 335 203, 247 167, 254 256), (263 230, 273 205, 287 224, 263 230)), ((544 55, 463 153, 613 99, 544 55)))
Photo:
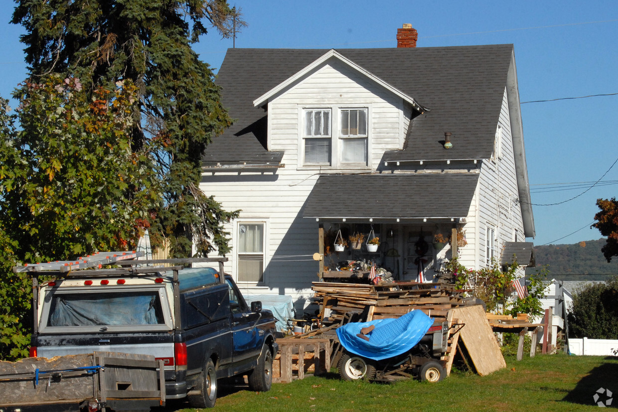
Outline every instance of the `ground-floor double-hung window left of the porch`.
POLYGON ((240 222, 238 225, 239 282, 264 281, 264 228, 263 222, 240 222))

